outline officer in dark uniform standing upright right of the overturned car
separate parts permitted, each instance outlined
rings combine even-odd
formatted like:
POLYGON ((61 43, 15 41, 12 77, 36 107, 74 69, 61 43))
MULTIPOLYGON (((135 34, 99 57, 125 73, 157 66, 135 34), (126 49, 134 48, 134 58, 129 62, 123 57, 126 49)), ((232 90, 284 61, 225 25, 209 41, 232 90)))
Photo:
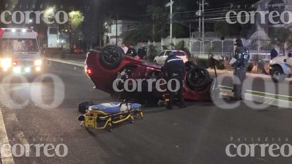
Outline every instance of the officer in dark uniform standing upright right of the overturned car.
MULTIPOLYGON (((234 67, 234 76, 237 76, 237 78, 234 78, 233 80, 233 91, 234 91, 234 97, 231 99, 233 101, 238 101, 240 99, 243 99, 242 97, 242 84, 243 81, 246 78, 246 62, 244 59, 244 56, 246 55, 246 50, 243 48, 243 44, 241 42, 237 42, 236 44, 236 52, 234 55, 234 58, 236 61, 232 63, 232 67, 234 67)), ((244 93, 243 93, 244 94, 244 93)))

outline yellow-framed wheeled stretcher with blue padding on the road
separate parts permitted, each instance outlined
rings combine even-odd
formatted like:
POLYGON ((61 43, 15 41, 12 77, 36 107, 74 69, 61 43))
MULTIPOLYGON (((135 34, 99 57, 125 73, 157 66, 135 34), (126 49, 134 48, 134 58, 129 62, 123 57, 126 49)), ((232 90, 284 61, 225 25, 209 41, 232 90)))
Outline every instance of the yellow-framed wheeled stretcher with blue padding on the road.
POLYGON ((140 104, 131 103, 105 103, 93 105, 86 110, 84 115, 80 115, 78 120, 81 125, 84 123, 86 129, 107 129, 112 130, 113 124, 118 124, 129 120, 134 122, 134 118, 144 118, 143 111, 140 109, 140 104))

